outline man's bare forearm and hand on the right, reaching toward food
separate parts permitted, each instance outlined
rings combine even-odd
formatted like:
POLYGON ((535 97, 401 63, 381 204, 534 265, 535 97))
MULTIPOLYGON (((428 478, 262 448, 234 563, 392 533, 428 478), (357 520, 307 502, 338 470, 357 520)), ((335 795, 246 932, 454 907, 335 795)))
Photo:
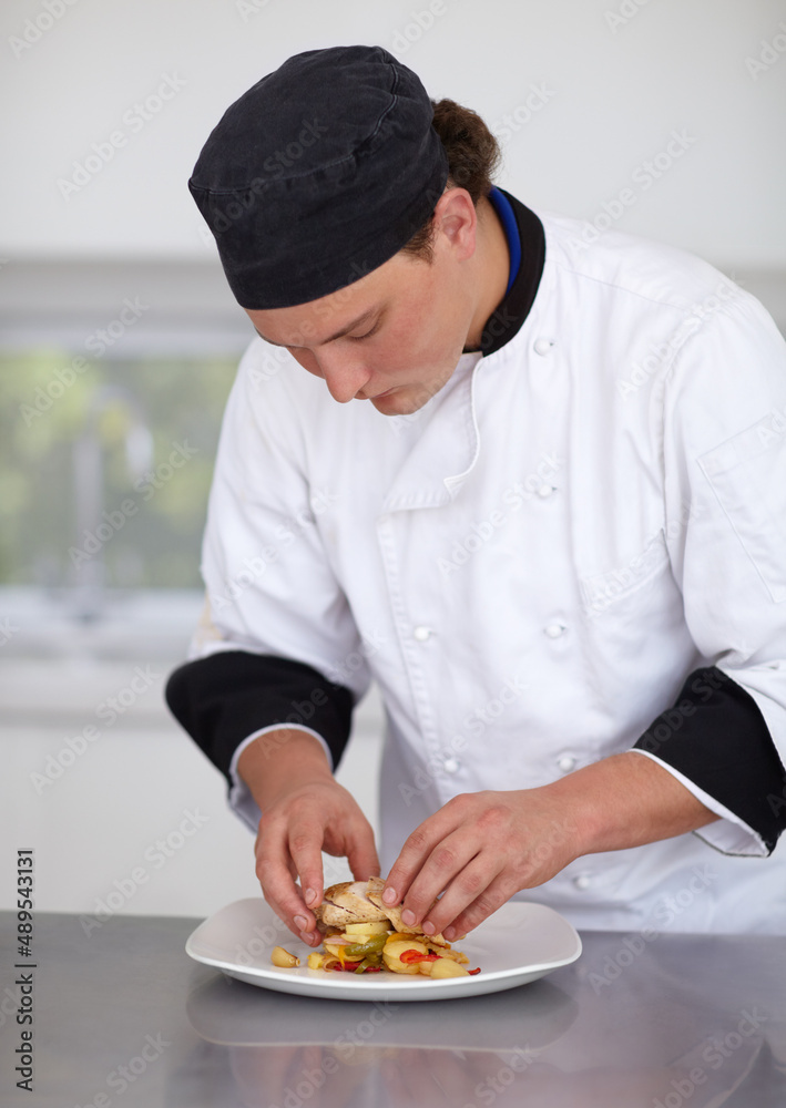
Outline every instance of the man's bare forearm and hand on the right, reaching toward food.
POLYGON ((614 755, 539 789, 455 797, 409 835, 382 899, 404 901, 408 926, 451 941, 582 854, 668 839, 716 818, 657 762, 614 755))

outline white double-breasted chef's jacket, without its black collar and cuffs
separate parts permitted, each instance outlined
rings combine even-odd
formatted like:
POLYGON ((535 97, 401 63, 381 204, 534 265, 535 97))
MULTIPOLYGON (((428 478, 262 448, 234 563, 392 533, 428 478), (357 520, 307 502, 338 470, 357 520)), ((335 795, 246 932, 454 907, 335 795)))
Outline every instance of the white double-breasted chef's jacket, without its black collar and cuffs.
MULTIPOLYGON (((192 657, 292 658, 358 699, 378 683, 382 873, 451 797, 629 750, 700 666, 754 698, 786 759, 783 339, 700 259, 614 233, 588 246, 580 222, 538 214, 525 321, 418 412, 336 403, 255 339, 225 414, 192 657)), ((256 830, 243 746, 231 800, 256 830)), ((583 927, 786 930, 783 845, 765 860, 661 765, 719 819, 518 897, 583 927)))

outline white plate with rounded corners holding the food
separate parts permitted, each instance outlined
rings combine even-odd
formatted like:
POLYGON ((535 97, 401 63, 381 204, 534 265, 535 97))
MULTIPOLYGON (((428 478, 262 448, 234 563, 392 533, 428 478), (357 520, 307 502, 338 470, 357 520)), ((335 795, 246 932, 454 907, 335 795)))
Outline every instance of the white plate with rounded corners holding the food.
POLYGON ((443 1001, 497 993, 537 981, 581 954, 573 926, 553 909, 529 901, 509 901, 453 945, 468 956, 471 968, 480 966, 479 974, 430 981, 387 970, 375 974, 309 970, 306 958, 312 948, 295 938, 262 897, 255 897, 227 904, 201 923, 185 952, 251 985, 345 1001, 443 1001), (270 952, 277 945, 303 964, 294 970, 272 965, 270 952))

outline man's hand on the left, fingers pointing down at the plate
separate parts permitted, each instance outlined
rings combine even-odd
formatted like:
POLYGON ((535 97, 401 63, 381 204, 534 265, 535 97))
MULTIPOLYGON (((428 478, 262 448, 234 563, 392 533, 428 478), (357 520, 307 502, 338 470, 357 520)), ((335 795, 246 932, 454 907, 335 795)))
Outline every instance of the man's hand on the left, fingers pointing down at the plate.
POLYGON ((324 893, 321 851, 346 858, 356 881, 379 874, 371 825, 306 731, 261 736, 243 751, 237 770, 262 811, 255 853, 265 900, 294 934, 316 946, 321 936, 312 910, 324 893))

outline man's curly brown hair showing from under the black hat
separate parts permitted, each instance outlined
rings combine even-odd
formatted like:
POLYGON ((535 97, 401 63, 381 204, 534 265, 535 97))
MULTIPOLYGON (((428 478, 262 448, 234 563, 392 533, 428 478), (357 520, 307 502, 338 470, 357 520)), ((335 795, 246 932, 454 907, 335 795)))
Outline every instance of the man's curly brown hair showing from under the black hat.
MULTIPOLYGON (((431 101, 433 129, 448 155, 446 188, 466 188, 478 205, 493 185, 492 175, 502 161, 499 143, 470 107, 455 100, 431 101)), ((412 235, 400 253, 430 265, 433 261, 433 214, 412 235)))

